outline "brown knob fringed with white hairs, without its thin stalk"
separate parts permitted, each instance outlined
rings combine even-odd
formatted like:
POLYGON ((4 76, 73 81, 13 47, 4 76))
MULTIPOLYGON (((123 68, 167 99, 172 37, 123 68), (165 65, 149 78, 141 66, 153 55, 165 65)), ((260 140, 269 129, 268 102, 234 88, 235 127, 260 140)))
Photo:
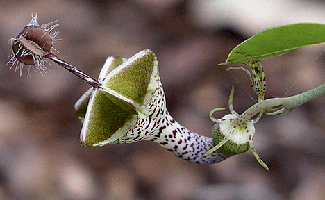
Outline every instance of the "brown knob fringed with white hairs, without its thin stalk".
POLYGON ((15 68, 15 72, 19 71, 22 76, 23 69, 26 68, 28 75, 30 69, 35 71, 46 72, 45 56, 55 50, 53 43, 58 42, 56 39, 59 31, 56 31, 55 24, 57 21, 49 22, 47 24, 38 24, 38 15, 31 15, 32 19, 16 38, 11 38, 12 52, 10 53, 10 60, 8 64, 10 69, 15 68))

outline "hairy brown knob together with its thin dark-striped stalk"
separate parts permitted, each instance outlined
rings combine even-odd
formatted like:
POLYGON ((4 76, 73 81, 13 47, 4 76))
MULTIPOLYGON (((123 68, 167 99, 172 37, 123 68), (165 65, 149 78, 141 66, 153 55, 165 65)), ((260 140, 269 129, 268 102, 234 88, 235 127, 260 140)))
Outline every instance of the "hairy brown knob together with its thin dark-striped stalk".
MULTIPOLYGON (((55 39, 59 32, 56 30, 53 31, 58 24, 53 24, 56 22, 54 21, 39 25, 37 17, 38 15, 35 15, 35 17, 32 15, 31 22, 24 26, 16 38, 11 38, 12 53, 7 63, 11 65, 10 69, 15 66, 15 72, 19 69, 20 76, 22 76, 24 67, 27 68, 27 76, 30 76, 29 72, 31 69, 39 71, 42 74, 42 72, 46 72, 47 70, 45 67, 45 58, 47 58, 83 79, 92 85, 92 87, 102 88, 103 85, 99 81, 81 72, 81 70, 52 53, 52 49, 54 49, 53 43, 60 40, 55 39)), ((56 51, 56 49, 54 50, 56 51)))

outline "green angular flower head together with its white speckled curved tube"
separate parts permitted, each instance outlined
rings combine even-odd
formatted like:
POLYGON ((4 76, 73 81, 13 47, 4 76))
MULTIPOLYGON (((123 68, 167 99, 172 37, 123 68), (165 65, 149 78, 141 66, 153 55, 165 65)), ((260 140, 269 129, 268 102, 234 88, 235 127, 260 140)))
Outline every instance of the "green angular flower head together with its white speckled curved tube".
POLYGON ((85 147, 149 140, 192 163, 217 163, 231 156, 215 151, 203 157, 213 139, 193 133, 169 115, 152 51, 129 59, 108 57, 99 82, 106 88, 90 88, 75 105, 85 147))

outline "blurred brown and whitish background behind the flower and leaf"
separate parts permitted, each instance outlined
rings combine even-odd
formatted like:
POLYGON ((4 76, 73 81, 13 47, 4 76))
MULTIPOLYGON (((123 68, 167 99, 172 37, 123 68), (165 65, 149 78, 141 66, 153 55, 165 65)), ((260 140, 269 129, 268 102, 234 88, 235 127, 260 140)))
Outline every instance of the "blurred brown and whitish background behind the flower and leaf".
MULTIPOLYGON (((197 165, 151 142, 82 147, 74 103, 89 85, 54 63, 44 77, 31 72, 31 78, 5 64, 8 40, 35 12, 40 24, 58 19, 58 56, 94 77, 107 56, 129 58, 151 49, 169 112, 190 130, 210 135, 208 113, 227 106, 232 84, 238 113, 255 97, 247 74, 232 71, 235 79, 217 64, 264 28, 324 23, 323 1, 0 3, 0 199, 325 199, 325 97, 286 117, 264 115, 256 124, 254 144, 268 173, 251 151, 197 165)), ((325 83, 323 51, 318 45, 264 60, 266 97, 325 83)))

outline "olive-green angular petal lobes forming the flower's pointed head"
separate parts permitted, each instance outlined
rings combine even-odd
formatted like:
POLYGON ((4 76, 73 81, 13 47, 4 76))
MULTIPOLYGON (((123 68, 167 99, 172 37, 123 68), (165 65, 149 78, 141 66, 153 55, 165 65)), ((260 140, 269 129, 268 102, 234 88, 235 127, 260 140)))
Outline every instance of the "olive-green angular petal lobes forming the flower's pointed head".
POLYGON ((147 104, 159 88, 157 58, 150 50, 140 51, 128 60, 109 57, 99 81, 122 96, 90 88, 77 101, 76 113, 83 122, 81 143, 87 147, 130 138, 127 134, 137 124, 139 112, 147 114, 147 104))

